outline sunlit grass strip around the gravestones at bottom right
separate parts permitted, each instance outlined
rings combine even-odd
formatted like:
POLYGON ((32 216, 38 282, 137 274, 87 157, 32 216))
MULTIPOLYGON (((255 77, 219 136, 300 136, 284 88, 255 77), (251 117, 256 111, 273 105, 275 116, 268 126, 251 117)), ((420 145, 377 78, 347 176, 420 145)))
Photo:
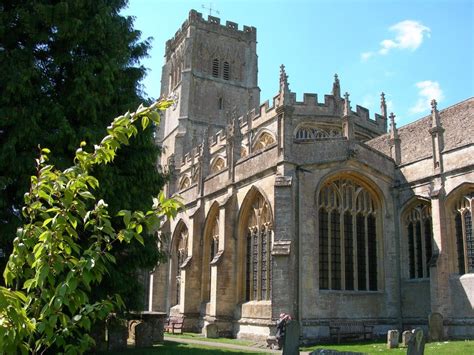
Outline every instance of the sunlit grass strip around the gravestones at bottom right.
MULTIPOLYGON (((387 344, 382 342, 350 343, 340 345, 315 345, 301 348, 303 351, 312 351, 316 349, 332 349, 338 351, 353 351, 365 354, 406 354, 406 348, 387 349, 387 344)), ((426 355, 465 355, 474 354, 474 340, 445 341, 428 343, 425 346, 426 355)))

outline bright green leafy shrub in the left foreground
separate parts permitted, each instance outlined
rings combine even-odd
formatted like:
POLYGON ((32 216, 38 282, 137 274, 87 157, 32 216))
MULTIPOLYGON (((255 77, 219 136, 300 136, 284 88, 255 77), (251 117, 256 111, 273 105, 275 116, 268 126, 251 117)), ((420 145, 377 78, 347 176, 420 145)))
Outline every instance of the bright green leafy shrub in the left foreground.
POLYGON ((11 288, 0 287, 0 353, 83 353, 93 344, 92 323, 123 305, 119 295, 90 297, 92 286, 115 263, 112 248, 134 240, 144 245, 150 237, 142 234, 153 234, 164 218, 173 218, 180 203, 160 194, 150 211, 119 211, 121 227, 114 228, 107 203, 94 195, 99 181, 91 172, 115 158, 137 134, 138 123, 145 130, 159 121, 157 109, 169 105, 157 102, 117 117, 92 152, 81 143, 67 169, 48 164, 50 151, 41 150, 25 194, 25 224, 17 230, 4 272, 11 288))

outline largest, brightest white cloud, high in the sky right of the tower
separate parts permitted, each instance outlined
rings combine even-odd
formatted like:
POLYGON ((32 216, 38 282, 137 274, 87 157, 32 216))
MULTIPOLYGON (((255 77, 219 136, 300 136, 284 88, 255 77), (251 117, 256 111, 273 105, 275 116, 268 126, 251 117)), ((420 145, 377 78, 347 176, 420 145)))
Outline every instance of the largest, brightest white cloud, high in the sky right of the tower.
POLYGON ((431 35, 431 29, 421 22, 405 20, 389 27, 394 32, 394 38, 384 39, 380 42, 377 52, 368 51, 360 55, 361 61, 365 62, 375 54, 387 55, 393 49, 416 50, 423 43, 425 38, 431 35))

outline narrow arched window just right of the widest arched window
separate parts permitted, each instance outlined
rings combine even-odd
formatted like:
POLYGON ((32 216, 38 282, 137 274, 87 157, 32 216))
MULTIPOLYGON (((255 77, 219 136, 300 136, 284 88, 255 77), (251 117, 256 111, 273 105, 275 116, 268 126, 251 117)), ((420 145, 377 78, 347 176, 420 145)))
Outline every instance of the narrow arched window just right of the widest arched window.
POLYGON ((405 218, 408 238, 408 269, 410 279, 430 276, 428 262, 433 254, 431 207, 420 203, 409 210, 405 218))

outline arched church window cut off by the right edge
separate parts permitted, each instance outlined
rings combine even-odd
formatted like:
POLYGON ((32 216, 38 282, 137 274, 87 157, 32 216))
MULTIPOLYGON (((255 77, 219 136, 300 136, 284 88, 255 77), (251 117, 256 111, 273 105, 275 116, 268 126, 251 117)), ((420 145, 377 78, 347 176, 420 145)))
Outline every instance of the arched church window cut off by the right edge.
POLYGON ((459 274, 474 273, 474 237, 472 235, 472 206, 474 193, 463 196, 455 207, 454 227, 458 253, 459 274))

